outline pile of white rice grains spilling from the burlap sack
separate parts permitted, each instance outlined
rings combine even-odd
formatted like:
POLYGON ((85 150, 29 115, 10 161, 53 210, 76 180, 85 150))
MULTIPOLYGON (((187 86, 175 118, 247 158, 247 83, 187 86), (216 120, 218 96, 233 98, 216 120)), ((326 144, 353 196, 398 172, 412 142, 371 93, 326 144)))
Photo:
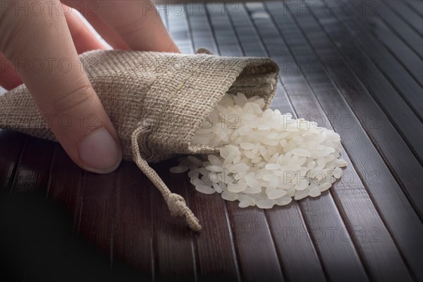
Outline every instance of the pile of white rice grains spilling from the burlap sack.
POLYGON ((192 138, 220 155, 188 156, 171 168, 188 172, 198 192, 221 193, 239 207, 269 209, 317 197, 341 178, 338 133, 264 108, 264 99, 226 94, 192 138))

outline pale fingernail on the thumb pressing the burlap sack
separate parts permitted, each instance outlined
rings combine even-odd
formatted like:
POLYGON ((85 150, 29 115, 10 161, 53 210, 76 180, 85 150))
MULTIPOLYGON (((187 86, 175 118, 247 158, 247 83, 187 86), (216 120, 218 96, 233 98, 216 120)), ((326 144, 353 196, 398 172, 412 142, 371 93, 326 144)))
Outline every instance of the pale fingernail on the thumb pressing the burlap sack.
POLYGON ((85 169, 96 173, 114 171, 122 160, 121 148, 106 128, 94 130, 82 139, 78 152, 85 169))

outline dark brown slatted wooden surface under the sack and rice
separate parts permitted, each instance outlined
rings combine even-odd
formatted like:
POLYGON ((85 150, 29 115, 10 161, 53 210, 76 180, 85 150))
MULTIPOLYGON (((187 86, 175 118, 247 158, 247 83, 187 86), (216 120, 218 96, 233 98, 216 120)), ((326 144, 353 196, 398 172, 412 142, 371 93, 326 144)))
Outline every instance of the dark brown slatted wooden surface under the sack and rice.
POLYGON ((423 281, 422 1, 164 4, 181 51, 271 56, 272 109, 341 135, 321 197, 270 210, 202 195, 154 165, 203 230, 169 217, 135 164, 107 175, 0 131, 0 280, 423 281), (185 8, 181 10, 181 8, 185 8))

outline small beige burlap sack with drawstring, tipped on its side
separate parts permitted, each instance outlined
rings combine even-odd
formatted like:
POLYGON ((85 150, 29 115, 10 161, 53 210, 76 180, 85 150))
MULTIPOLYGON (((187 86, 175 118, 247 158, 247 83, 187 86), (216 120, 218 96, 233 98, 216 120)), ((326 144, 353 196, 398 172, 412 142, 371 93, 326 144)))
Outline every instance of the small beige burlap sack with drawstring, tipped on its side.
MULTIPOLYGON (((193 230, 200 230, 183 198, 168 190, 147 161, 217 152, 192 145, 195 131, 226 92, 259 95, 269 106, 276 91, 276 63, 267 58, 111 50, 89 51, 80 59, 118 130, 124 159, 135 161, 159 188, 171 214, 185 216, 193 230)), ((0 97, 0 128, 56 140, 25 85, 0 97)))

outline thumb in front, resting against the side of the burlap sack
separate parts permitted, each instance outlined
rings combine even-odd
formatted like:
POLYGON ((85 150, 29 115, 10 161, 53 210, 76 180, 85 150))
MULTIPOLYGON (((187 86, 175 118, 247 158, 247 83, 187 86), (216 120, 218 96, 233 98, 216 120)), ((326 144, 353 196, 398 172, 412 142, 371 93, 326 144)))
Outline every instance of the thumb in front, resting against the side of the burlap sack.
POLYGON ((72 11, 48 3, 39 2, 45 7, 37 15, 2 14, 0 51, 69 157, 87 171, 109 173, 122 159, 118 133, 82 68, 64 17, 72 11))

